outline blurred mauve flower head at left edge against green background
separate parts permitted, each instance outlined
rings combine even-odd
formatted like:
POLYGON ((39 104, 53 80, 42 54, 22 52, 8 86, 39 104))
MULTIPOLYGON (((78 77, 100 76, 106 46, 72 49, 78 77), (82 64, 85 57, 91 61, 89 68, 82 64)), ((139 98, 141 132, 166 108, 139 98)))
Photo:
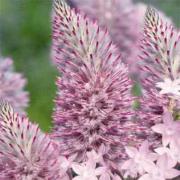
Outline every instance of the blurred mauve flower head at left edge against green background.
POLYGON ((8 101, 15 110, 24 114, 28 104, 28 93, 23 90, 26 80, 13 71, 13 61, 0 57, 0 99, 8 101))

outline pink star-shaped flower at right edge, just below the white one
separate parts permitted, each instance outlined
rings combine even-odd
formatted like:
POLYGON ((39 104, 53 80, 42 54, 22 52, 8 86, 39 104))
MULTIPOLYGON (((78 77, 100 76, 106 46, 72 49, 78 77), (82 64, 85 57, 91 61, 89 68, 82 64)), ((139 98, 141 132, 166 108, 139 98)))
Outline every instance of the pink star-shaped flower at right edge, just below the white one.
POLYGON ((180 122, 174 121, 172 114, 166 111, 163 115, 163 123, 152 127, 152 130, 162 135, 163 146, 167 146, 180 137, 180 122))

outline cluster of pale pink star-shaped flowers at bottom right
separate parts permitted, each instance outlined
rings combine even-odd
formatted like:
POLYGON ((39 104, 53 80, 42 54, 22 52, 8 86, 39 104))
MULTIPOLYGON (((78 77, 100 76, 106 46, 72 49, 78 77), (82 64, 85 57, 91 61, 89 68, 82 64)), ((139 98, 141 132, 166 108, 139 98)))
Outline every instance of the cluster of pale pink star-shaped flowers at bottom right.
POLYGON ((152 149, 145 141, 139 149, 126 147, 130 159, 121 166, 121 169, 125 170, 125 177, 165 180, 180 176, 177 169, 180 163, 180 122, 174 121, 172 114, 166 112, 163 122, 152 126, 152 129, 161 135, 161 145, 152 149))

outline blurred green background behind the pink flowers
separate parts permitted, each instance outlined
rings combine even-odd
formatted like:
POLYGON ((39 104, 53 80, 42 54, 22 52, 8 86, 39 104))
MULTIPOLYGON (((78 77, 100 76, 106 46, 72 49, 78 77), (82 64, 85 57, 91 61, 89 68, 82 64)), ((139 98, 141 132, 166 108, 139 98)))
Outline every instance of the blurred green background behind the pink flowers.
MULTIPOLYGON (((180 27, 180 0, 141 2, 164 11, 180 27)), ((28 115, 45 131, 52 127, 58 74, 50 63, 51 7, 51 0, 0 0, 0 51, 28 79, 28 115)))

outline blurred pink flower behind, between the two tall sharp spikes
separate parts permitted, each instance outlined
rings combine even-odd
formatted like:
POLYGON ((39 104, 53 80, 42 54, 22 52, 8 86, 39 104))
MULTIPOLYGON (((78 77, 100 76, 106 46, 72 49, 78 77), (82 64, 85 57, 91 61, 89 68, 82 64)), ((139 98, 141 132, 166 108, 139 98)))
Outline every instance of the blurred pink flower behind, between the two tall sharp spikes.
POLYGON ((107 27, 114 43, 129 64, 130 73, 137 75, 138 41, 143 27, 146 6, 131 0, 70 0, 91 19, 107 27))

